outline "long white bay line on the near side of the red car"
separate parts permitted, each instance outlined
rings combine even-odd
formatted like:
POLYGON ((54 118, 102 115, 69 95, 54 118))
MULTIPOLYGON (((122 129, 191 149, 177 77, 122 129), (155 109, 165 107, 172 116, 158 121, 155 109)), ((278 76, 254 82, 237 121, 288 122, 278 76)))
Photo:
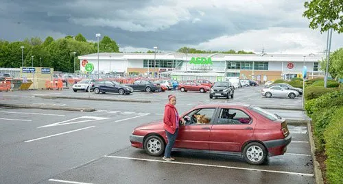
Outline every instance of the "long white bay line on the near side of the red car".
POLYGON ((130 159, 130 160, 140 160, 140 161, 156 161, 156 162, 163 162, 163 163, 176 163, 176 164, 191 165, 191 166, 206 166, 206 167, 213 167, 213 168, 228 168, 228 169, 236 169, 236 170, 252 170, 252 171, 259 171, 259 172, 294 174, 294 175, 300 175, 300 176, 314 176, 314 174, 301 173, 301 172, 287 172, 287 171, 279 171, 279 170, 261 170, 261 169, 254 169, 254 168, 239 168, 239 167, 233 167, 233 166, 220 166, 220 165, 211 165, 211 164, 203 164, 203 163, 186 163, 186 162, 180 162, 180 161, 139 159, 139 158, 134 158, 134 157, 119 157, 119 156, 105 156, 105 157, 114 158, 114 159, 130 159))

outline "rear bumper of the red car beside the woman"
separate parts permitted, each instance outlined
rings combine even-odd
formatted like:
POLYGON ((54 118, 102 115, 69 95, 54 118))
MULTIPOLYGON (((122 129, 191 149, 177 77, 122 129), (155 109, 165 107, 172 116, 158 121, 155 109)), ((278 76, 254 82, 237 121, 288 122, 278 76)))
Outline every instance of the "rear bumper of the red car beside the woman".
POLYGON ((287 145, 291 143, 291 141, 292 136, 288 135, 284 139, 265 141, 263 142, 263 144, 268 149, 268 155, 272 157, 277 155, 283 155, 283 153, 285 153, 287 150, 287 145))

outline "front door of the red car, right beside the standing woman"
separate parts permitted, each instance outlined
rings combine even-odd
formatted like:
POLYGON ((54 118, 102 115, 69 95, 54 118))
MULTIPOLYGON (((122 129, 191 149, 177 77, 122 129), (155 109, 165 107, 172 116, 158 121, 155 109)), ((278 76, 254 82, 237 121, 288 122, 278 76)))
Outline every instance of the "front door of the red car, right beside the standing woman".
POLYGON ((180 125, 178 137, 174 144, 175 148, 187 148, 194 150, 209 150, 209 137, 216 108, 194 109, 186 114, 186 123, 180 125), (197 124, 194 115, 205 115, 209 123, 197 124))

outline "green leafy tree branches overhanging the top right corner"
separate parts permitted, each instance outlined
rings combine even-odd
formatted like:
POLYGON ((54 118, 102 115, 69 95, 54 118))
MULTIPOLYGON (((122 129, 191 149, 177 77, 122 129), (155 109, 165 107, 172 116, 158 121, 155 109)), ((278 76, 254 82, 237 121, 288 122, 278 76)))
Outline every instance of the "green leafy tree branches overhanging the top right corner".
POLYGON ((343 1, 342 0, 312 0, 306 1, 304 7, 307 9, 303 16, 310 20, 309 27, 318 29, 320 33, 330 28, 343 32, 343 1))

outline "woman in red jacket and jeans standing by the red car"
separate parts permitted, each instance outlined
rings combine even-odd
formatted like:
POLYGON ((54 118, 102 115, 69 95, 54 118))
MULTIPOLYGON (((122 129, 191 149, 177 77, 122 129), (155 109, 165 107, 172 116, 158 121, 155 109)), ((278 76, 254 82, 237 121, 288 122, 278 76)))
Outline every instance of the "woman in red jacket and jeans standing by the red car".
MULTIPOLYGON (((176 137, 178 136, 178 127, 179 127, 179 116, 178 111, 176 110, 176 96, 170 94, 168 96, 169 102, 165 105, 165 114, 163 116, 163 128, 165 129, 165 134, 167 135, 168 143, 165 146, 165 156, 162 158, 165 161, 174 161, 174 158, 171 158, 171 148, 173 148, 176 137)), ((183 119, 181 119, 184 122, 183 119)))

